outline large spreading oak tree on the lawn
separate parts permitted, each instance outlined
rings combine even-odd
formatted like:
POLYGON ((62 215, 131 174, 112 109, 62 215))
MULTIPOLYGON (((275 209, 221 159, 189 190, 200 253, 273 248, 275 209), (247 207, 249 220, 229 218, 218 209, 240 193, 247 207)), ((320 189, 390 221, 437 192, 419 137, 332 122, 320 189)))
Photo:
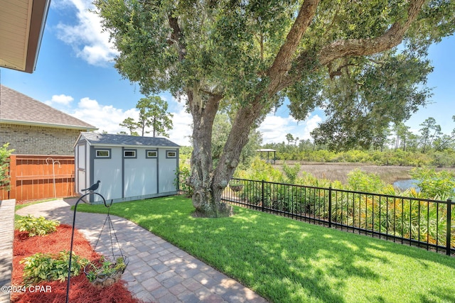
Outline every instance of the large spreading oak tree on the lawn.
MULTIPOLYGON (((455 24, 454 1, 444 0, 96 0, 95 5, 119 50, 120 74, 139 82, 144 94, 168 90, 186 102, 193 116, 188 183, 196 211, 205 216, 232 214, 231 206, 220 202, 221 193, 250 130, 285 97, 291 113, 304 119, 321 105, 327 79, 342 75, 344 67, 371 64, 375 54, 397 45, 424 56, 455 24), (214 165, 211 137, 220 109, 235 118, 214 165)), ((412 109, 407 102, 413 100, 397 106, 412 109)))

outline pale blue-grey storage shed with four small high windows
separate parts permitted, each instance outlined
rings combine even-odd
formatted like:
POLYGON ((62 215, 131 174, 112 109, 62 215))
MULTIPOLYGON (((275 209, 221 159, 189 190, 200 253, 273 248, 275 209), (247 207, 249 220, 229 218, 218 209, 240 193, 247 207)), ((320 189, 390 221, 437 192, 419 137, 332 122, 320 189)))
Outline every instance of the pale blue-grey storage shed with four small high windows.
MULTIPOLYGON (((125 202, 177 194, 179 145, 166 138, 82 132, 75 143, 76 192, 100 180, 106 201, 125 202)), ((102 203, 90 195, 92 204, 102 203)))

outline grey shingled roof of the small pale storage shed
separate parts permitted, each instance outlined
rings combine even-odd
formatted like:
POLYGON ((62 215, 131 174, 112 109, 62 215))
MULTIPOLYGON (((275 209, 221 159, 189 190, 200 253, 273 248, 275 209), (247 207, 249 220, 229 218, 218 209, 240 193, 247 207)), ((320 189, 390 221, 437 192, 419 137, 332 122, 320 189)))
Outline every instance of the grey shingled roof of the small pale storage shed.
POLYGON ((166 138, 114 135, 112 133, 80 133, 79 138, 85 138, 90 145, 109 146, 140 146, 146 148, 179 148, 180 145, 166 138))

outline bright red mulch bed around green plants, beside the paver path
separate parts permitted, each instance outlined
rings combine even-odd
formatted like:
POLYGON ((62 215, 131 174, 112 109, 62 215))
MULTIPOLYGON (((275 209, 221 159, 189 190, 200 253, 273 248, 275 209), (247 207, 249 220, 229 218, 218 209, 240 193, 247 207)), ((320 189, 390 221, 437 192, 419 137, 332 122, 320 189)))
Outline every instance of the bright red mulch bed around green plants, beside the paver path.
MULTIPOLYGON (((28 232, 14 231, 12 285, 17 286, 23 283, 24 265, 19 264, 23 258, 34 253, 58 253, 61 250, 70 250, 71 231, 72 227, 66 224, 60 224, 57 231, 46 236, 28 237, 28 232)), ((77 230, 74 233, 73 253, 90 261, 100 258, 100 255, 93 250, 87 239, 77 230)), ((41 287, 32 287, 32 291, 26 287, 26 292, 11 293, 11 302, 65 302, 67 283, 67 280, 65 282, 41 282, 39 284, 41 287)), ((83 272, 77 277, 71 277, 69 300, 72 303, 141 302, 132 296, 124 280, 119 280, 109 287, 99 289, 89 282, 83 272)))

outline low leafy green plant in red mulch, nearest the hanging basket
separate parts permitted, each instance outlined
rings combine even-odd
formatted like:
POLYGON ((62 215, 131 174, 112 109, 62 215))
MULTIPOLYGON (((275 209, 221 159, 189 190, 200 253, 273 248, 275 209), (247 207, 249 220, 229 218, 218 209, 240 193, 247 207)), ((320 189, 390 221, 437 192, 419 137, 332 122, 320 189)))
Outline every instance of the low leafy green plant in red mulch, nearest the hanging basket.
MULTIPOLYGON (((23 282, 25 285, 37 284, 41 281, 63 282, 68 277, 70 252, 60 251, 53 253, 36 253, 23 258, 19 263, 24 263, 23 282)), ((80 275, 88 260, 80 258, 73 253, 71 258, 71 275, 80 275)))

